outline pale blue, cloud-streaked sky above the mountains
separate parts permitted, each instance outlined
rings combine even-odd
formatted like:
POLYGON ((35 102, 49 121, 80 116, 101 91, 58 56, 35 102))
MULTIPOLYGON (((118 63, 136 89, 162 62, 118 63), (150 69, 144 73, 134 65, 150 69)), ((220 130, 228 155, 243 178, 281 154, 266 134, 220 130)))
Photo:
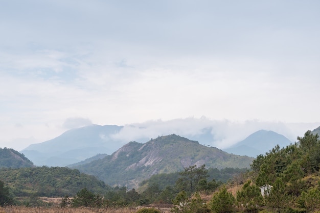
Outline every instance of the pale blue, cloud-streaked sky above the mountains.
POLYGON ((0 0, 0 147, 92 123, 316 128, 319 9, 308 0, 0 0))

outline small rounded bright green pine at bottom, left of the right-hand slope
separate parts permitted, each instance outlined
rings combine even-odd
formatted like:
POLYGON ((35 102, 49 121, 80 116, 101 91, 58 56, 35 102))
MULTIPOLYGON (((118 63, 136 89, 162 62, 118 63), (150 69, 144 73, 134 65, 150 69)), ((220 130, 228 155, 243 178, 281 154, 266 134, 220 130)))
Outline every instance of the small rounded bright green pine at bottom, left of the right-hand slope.
POLYGON ((235 211, 235 197, 227 192, 225 187, 213 194, 210 201, 211 210, 216 213, 229 213, 235 211))

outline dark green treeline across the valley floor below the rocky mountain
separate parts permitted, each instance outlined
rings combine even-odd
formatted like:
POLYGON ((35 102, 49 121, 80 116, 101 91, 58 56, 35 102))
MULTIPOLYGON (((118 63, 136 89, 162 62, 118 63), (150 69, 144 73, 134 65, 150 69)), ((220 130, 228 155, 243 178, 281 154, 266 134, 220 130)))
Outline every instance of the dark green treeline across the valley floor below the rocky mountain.
POLYGON ((100 196, 84 188, 73 199, 65 196, 61 205, 114 208, 151 203, 173 204, 175 197, 180 192, 184 192, 189 197, 194 193, 213 193, 222 182, 217 182, 215 179, 208 181, 208 177, 208 169, 205 168, 205 165, 200 167, 194 165, 184 168, 184 171, 179 172, 179 178, 175 184, 173 186, 167 185, 164 189, 161 189, 157 183, 152 183, 142 193, 135 189, 128 190, 126 187, 115 187, 105 193, 104 196, 100 196))

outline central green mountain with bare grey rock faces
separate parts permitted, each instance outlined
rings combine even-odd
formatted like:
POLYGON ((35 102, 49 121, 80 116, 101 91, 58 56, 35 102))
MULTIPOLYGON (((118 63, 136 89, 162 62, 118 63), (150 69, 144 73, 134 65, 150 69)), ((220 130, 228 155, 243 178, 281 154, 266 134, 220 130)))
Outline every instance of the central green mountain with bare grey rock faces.
POLYGON ((162 136, 145 144, 129 142, 118 151, 88 164, 74 166, 109 185, 138 187, 154 174, 181 171, 205 164, 208 168, 249 168, 253 158, 228 154, 177 135, 162 136))

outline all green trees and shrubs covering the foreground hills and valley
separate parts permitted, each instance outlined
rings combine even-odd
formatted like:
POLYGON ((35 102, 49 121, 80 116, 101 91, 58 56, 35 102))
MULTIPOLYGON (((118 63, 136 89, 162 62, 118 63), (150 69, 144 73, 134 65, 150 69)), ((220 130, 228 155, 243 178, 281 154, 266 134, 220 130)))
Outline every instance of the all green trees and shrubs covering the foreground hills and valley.
MULTIPOLYGON (((96 212, 109 212, 107 209, 116 212, 116 208, 131 208, 130 212, 169 212, 170 209, 176 213, 319 212, 319 153, 318 135, 307 131, 304 137, 298 137, 297 143, 285 148, 276 146, 265 155, 257 156, 250 171, 193 165, 170 175, 157 174, 143 181, 137 191, 124 186, 108 187, 75 169, 3 168, 0 178, 8 181, 0 181, 0 204, 5 207, 15 203, 13 196, 28 196, 29 202, 24 205, 43 205, 38 198, 43 187, 50 195, 62 197, 60 211, 56 212, 76 212, 83 207, 96 212), (240 171, 245 173, 239 174, 240 171), (224 184, 213 178, 227 175, 234 176, 224 184), (66 188, 68 184, 73 191, 66 188), (263 195, 260 187, 266 190, 263 195), (150 204, 170 207, 161 211, 149 207, 138 210, 138 206, 150 204), (74 211, 68 211, 70 208, 74 211)), ((120 154, 117 157, 121 157, 120 154)))

